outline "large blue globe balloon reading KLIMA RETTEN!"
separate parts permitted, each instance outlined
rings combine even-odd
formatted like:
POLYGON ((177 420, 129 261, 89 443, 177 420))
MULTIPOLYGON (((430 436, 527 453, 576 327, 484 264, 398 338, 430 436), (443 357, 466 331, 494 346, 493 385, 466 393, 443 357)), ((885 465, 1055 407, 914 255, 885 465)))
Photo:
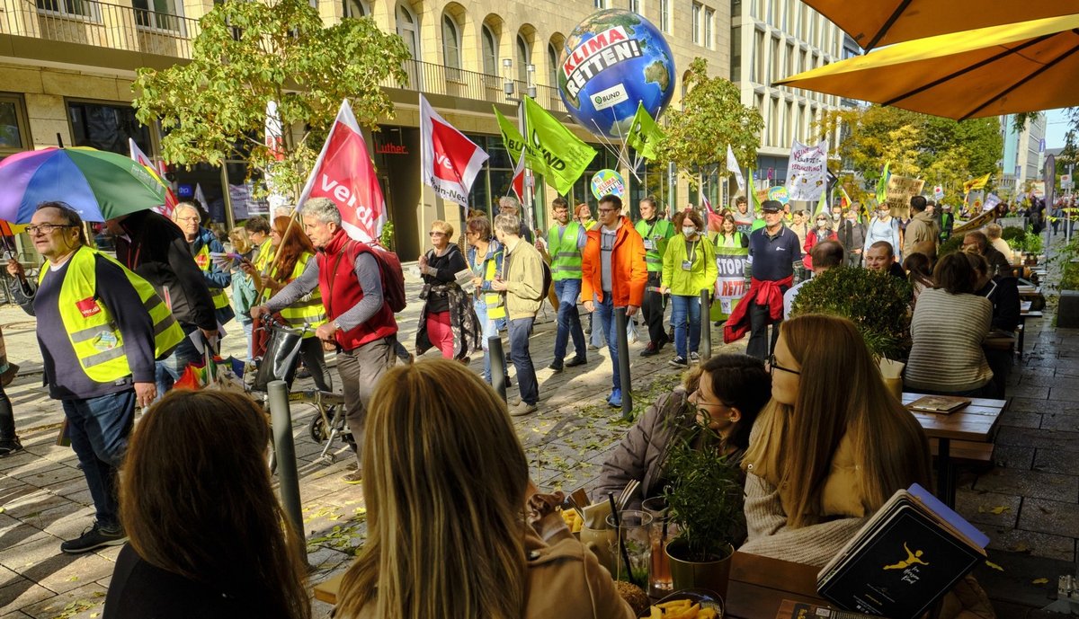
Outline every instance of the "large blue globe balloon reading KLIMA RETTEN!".
POLYGON ((641 102, 659 118, 674 95, 674 57, 663 33, 622 9, 597 11, 565 40, 558 92, 570 114, 596 135, 620 139, 641 102))

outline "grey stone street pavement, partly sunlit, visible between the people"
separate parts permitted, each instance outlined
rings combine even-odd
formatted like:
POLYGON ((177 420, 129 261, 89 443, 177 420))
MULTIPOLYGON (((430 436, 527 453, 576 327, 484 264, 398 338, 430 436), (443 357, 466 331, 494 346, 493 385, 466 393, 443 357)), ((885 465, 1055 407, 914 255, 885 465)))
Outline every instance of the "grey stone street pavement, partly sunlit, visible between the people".
MULTIPOLYGON (((410 298, 416 289, 410 286, 410 298)), ((419 311, 419 302, 412 302, 399 317, 409 349, 419 311)), ((540 411, 514 423, 532 478, 541 487, 572 490, 596 479, 628 426, 619 411, 605 405, 605 348, 590 350, 584 367, 558 374, 546 369, 554 347, 552 319, 554 312, 545 305, 532 336, 540 411)), ((74 454, 55 445, 63 412, 41 387, 33 319, 17 307, 2 306, 0 325, 9 357, 22 366, 8 393, 26 445, 26 452, 0 459, 0 619, 98 617, 119 549, 79 556, 60 553, 60 540, 91 523, 90 493, 74 454)), ((1028 321, 1027 329, 1027 352, 1013 368, 1011 405, 996 437, 996 466, 966 471, 958 491, 960 513, 993 539, 991 561, 1000 569, 983 566, 975 574, 1001 617, 1033 617, 1032 608, 1052 600, 1056 577, 1075 572, 1079 538, 1079 330, 1055 329, 1050 316, 1028 321)), ((234 331, 226 338, 226 354, 243 350, 238 328, 234 331)), ((716 332, 712 341, 713 352, 745 349, 745 341, 722 345, 716 332)), ((678 376, 667 364, 669 347, 650 358, 639 356, 641 344, 630 347, 639 412, 678 376)), ((478 372, 481 362, 474 357, 472 368, 478 372)), ((312 582, 317 582, 347 566, 363 544, 366 525, 360 487, 339 481, 351 459, 347 450, 334 445, 339 457, 331 466, 316 462, 322 445, 309 436, 313 415, 310 405, 293 407, 304 534, 312 582)), ((328 610, 315 603, 316 617, 328 616, 328 610)))

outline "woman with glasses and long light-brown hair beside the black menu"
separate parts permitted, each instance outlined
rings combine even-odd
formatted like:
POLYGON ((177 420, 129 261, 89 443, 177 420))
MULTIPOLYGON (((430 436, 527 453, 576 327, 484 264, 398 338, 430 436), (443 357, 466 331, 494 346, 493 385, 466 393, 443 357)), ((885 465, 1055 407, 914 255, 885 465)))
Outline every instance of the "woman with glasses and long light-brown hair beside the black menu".
POLYGON ((929 444, 846 318, 784 320, 769 369, 771 401, 741 465, 739 550, 823 566, 897 490, 930 487, 929 444))

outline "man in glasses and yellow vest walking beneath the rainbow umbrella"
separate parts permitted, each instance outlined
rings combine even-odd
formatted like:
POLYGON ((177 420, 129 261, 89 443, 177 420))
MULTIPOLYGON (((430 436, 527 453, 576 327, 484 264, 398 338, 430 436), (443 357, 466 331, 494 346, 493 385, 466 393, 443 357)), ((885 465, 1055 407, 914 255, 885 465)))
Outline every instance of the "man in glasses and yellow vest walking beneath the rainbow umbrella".
MULTIPOLYGON (((64 407, 67 436, 96 509, 94 524, 60 550, 118 546, 126 536, 117 469, 135 407, 153 401, 154 361, 179 344, 183 331, 149 283, 85 245, 82 220, 71 207, 42 203, 26 232, 47 262, 37 291, 27 297, 15 286, 16 299, 37 317, 45 384, 64 407)), ((22 276, 23 266, 11 260, 8 273, 22 276)))

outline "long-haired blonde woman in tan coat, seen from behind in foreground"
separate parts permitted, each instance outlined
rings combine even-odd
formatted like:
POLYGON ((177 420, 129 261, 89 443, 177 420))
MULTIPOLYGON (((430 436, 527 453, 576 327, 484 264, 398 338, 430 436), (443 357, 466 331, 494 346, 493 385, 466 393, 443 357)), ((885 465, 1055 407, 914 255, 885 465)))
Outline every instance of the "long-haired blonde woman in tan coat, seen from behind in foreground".
POLYGON ((337 617, 633 617, 552 510, 560 497, 530 492, 506 404, 467 368, 386 372, 363 454, 368 537, 337 617))

